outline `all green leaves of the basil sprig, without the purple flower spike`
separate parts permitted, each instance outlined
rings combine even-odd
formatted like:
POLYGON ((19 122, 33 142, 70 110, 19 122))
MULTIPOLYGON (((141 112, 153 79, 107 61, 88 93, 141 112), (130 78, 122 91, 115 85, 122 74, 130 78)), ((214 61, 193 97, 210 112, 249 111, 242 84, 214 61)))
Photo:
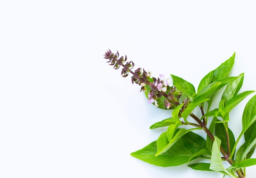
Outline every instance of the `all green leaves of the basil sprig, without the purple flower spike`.
MULTIPOLYGON (((252 97, 245 107, 242 118, 243 130, 237 140, 227 124, 230 120, 229 113, 231 110, 254 92, 239 93, 243 85, 244 73, 236 77, 228 76, 234 65, 234 57, 235 53, 219 67, 204 76, 198 85, 197 93, 190 82, 171 75, 173 85, 182 92, 183 98, 189 98, 189 100, 181 100, 181 104, 171 108, 173 109, 171 118, 150 126, 150 129, 165 126, 168 128, 159 136, 157 141, 131 155, 162 167, 182 165, 197 158, 210 159, 211 163, 200 162, 188 166, 195 170, 216 171, 231 177, 243 177, 241 168, 256 165, 256 159, 250 158, 256 147, 256 122, 254 122, 256 120, 256 96, 252 97), (219 108, 210 110, 216 93, 222 87, 225 89, 219 108), (197 117, 192 114, 196 108, 202 111, 202 116, 197 117), (204 111, 207 112, 204 114, 204 111), (191 119, 189 116, 195 119, 198 125, 189 122, 191 119), (208 120, 209 127, 205 125, 208 120), (195 128, 180 128, 182 125, 192 125, 195 128), (193 133, 195 129, 203 129, 207 134, 206 140, 193 133), (236 149, 242 136, 245 136, 245 143, 236 149), (198 144, 201 144, 200 147, 198 144), (187 149, 188 146, 189 149, 187 149), (235 153, 236 160, 234 160, 235 153), (223 155, 227 157, 229 162, 233 162, 228 168, 225 168, 222 163, 223 155)), ((149 89, 150 87, 145 92, 146 96, 149 89)), ((161 109, 164 109, 163 105, 166 98, 162 97, 158 98, 157 103, 161 109)), ((231 118, 231 120, 236 120, 236 118, 231 118)))

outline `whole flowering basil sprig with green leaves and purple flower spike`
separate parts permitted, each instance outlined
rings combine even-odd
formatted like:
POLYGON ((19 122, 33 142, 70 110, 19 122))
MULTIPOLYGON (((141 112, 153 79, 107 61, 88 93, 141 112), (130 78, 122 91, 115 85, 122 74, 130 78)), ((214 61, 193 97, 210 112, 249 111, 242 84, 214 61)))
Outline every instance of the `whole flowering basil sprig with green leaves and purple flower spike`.
POLYGON ((169 167, 189 163, 198 158, 210 160, 188 165, 192 169, 216 171, 234 178, 245 178, 245 167, 256 165, 256 158, 251 158, 256 147, 256 95, 246 104, 242 116, 243 129, 234 137, 228 123, 229 113, 241 101, 254 91, 239 93, 243 85, 244 73, 229 76, 234 66, 235 53, 219 67, 202 78, 197 91, 188 81, 171 75, 169 81, 163 75, 151 77, 150 71, 134 68, 134 62, 127 62, 127 56, 119 57, 119 52, 108 50, 104 54, 107 62, 115 69, 121 68, 121 76, 130 73, 132 84, 141 86, 149 103, 159 109, 171 110, 170 117, 150 126, 150 129, 166 127, 159 138, 146 147, 131 153, 132 156, 153 165, 169 167), (216 93, 225 87, 219 101, 219 107, 211 109, 216 93), (198 108, 200 116, 193 112, 198 108), (188 125, 188 129, 181 126, 188 125), (192 127, 192 128, 191 128, 192 127), (203 130, 206 139, 194 130, 203 130), (238 148, 238 142, 244 137, 245 142, 238 148), (181 151, 182 149, 182 151, 181 151), (227 161, 230 167, 224 167, 227 161))

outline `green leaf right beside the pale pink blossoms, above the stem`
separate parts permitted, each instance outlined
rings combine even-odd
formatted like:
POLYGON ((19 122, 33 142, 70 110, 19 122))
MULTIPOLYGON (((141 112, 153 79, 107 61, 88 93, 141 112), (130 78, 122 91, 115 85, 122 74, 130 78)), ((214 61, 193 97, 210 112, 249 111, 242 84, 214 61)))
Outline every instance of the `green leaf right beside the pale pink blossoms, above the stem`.
POLYGON ((176 86, 177 90, 182 91, 182 94, 186 97, 191 98, 191 94, 187 91, 195 92, 195 87, 190 83, 184 80, 183 78, 171 75, 173 78, 173 85, 176 86))

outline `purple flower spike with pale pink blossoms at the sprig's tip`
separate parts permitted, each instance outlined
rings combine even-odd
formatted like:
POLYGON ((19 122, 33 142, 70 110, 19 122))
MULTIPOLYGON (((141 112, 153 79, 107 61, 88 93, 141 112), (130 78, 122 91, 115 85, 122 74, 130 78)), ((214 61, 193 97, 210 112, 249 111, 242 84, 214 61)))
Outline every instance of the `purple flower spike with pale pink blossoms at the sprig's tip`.
POLYGON ((154 103, 156 107, 157 99, 164 96, 164 107, 169 109, 174 105, 179 105, 178 100, 182 95, 182 92, 177 91, 176 87, 172 86, 172 83, 164 77, 164 75, 160 74, 159 78, 151 78, 151 72, 145 71, 144 69, 138 68, 135 71, 132 71, 134 67, 134 63, 132 61, 126 62, 127 56, 121 56, 119 58, 119 52, 112 53, 112 51, 108 50, 105 55, 105 59, 108 59, 110 65, 114 66, 114 69, 119 69, 123 67, 121 70, 121 75, 123 77, 127 77, 128 73, 132 74, 132 84, 136 83, 141 86, 141 91, 148 92, 148 102, 154 103), (124 64, 126 62, 126 64, 124 64), (146 87, 148 86, 148 87, 146 87))

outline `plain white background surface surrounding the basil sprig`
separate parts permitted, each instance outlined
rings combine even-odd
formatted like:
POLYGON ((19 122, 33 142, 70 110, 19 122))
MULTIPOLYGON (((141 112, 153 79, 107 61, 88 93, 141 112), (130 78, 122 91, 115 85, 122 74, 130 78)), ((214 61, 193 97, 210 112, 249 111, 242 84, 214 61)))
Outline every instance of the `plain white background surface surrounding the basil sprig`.
MULTIPOLYGON (((170 112, 149 105, 103 53, 118 50, 135 68, 197 88, 236 52, 231 75, 245 72, 241 91, 256 90, 255 8, 246 0, 2 0, 0 177, 222 178, 130 156, 157 139, 164 129, 149 126, 170 112)), ((252 96, 231 113, 236 138, 252 96)))

